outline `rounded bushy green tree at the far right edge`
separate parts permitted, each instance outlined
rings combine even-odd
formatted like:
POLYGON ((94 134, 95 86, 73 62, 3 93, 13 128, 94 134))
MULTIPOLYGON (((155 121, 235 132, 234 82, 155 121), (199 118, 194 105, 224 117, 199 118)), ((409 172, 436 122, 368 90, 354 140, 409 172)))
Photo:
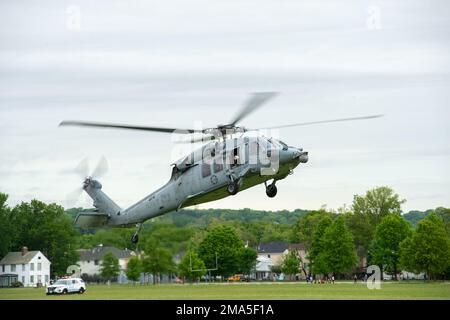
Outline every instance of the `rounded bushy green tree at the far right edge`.
POLYGON ((408 271, 426 272, 433 278, 450 266, 449 236, 442 218, 434 212, 419 222, 400 247, 400 263, 408 271))

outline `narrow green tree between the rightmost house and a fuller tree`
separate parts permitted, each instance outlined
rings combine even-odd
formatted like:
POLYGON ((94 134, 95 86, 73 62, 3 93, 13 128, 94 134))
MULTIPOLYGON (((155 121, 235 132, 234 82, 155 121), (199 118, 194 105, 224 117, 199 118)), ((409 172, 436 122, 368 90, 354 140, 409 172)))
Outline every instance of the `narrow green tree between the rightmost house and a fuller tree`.
POLYGON ((329 216, 323 216, 318 222, 317 226, 313 230, 313 236, 311 240, 311 247, 308 253, 308 260, 310 263, 311 273, 326 273, 327 268, 323 261, 318 259, 321 252, 325 250, 323 244, 323 236, 325 231, 333 224, 333 221, 329 216))

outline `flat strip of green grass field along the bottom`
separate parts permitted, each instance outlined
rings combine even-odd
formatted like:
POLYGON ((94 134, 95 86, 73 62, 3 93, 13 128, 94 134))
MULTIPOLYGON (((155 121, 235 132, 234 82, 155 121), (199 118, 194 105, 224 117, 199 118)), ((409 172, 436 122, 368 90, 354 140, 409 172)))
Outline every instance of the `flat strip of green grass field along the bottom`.
POLYGON ((43 288, 0 289, 0 300, 174 300, 174 299, 450 299, 450 282, 382 283, 380 290, 369 290, 365 284, 306 284, 297 283, 224 283, 195 285, 90 285, 83 295, 46 296, 43 288))

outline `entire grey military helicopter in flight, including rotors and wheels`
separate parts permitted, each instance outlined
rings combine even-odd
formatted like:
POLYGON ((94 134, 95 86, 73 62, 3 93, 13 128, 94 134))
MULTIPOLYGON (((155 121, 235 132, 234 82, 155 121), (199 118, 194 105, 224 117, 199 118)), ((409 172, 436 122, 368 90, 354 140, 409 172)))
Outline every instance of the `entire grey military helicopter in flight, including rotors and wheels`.
MULTIPOLYGON (((105 172, 107 164, 106 160, 102 159, 91 176, 87 176, 87 173, 84 175, 81 188, 81 191, 84 190, 93 199, 95 210, 79 213, 76 225, 81 228, 136 226, 131 241, 137 243, 142 223, 165 213, 234 196, 240 191, 263 183, 267 196, 275 197, 276 182, 292 174, 300 163, 306 163, 308 152, 302 148, 288 146, 275 138, 250 136, 246 133, 260 129, 238 126, 238 122, 276 95, 276 92, 254 93, 228 124, 201 130, 86 121, 61 122, 60 126, 179 133, 191 135, 192 138, 186 142, 204 143, 200 148, 172 164, 172 175, 164 186, 127 209, 120 208, 111 200, 102 191, 102 184, 93 178, 105 172), (200 134, 200 137, 194 137, 195 134, 200 134)), ((303 122, 264 129, 371 119, 380 116, 303 122)), ((78 169, 87 172, 85 163, 80 164, 78 169)))

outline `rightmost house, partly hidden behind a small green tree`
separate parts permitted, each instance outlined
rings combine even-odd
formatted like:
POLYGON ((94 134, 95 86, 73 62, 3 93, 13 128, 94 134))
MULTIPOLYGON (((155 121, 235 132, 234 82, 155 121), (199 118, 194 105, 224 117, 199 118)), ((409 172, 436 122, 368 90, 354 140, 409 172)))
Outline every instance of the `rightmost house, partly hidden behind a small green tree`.
MULTIPOLYGON (((306 259, 307 252, 304 244, 294 243, 289 244, 282 241, 272 241, 261 243, 256 247, 258 257, 256 261, 255 277, 257 280, 269 280, 273 278, 272 267, 281 266, 283 257, 290 251, 296 250, 302 260, 300 268, 305 270, 308 268, 308 259, 306 259)), ((304 278, 305 272, 300 273, 299 278, 304 278)))

